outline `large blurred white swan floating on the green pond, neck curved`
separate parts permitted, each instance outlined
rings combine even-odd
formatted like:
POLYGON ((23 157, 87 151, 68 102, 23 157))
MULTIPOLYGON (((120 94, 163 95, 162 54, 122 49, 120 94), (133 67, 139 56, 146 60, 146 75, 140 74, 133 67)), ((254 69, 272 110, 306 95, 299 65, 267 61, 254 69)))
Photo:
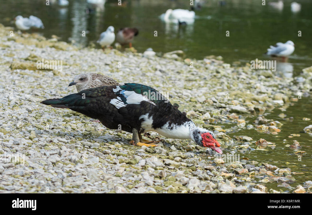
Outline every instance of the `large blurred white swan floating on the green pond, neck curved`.
POLYGON ((191 24, 194 22, 195 12, 183 9, 168 9, 166 13, 160 15, 160 19, 164 22, 179 23, 186 22, 191 24))

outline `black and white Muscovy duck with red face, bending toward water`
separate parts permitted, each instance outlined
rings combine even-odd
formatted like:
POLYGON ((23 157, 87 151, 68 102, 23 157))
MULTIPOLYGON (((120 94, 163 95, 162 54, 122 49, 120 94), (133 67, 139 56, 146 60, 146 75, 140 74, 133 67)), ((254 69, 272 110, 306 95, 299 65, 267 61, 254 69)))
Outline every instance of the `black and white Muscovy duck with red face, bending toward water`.
POLYGON ((212 131, 196 127, 167 98, 149 86, 135 83, 102 86, 41 103, 99 119, 109 129, 119 129, 121 125, 122 130, 133 133, 131 143, 137 146, 155 146, 144 143, 141 137, 141 133, 155 131, 168 138, 192 139, 222 154, 212 131))

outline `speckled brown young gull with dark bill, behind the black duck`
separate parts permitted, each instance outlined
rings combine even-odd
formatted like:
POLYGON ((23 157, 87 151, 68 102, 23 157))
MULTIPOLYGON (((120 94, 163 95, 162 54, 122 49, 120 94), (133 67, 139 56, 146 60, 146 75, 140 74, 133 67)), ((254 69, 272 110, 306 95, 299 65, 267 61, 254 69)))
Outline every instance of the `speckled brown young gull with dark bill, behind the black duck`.
POLYGON ((81 90, 100 87, 100 86, 119 85, 119 83, 115 81, 114 79, 107 77, 107 76, 103 76, 101 74, 86 73, 86 74, 76 75, 74 78, 74 81, 69 83, 68 86, 73 86, 73 85, 76 86, 77 92, 80 92, 81 90))

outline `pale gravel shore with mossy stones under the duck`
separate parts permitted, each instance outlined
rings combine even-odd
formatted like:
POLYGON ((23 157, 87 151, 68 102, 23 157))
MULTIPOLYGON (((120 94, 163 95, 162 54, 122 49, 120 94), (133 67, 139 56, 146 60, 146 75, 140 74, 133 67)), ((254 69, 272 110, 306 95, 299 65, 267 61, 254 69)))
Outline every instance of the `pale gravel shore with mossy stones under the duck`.
POLYGON ((261 140, 233 139, 231 131, 248 127, 277 134, 281 123, 262 114, 275 107, 287 109, 298 95, 309 92, 311 67, 294 84, 295 78, 252 70, 249 64, 231 66, 222 57, 191 60, 180 51, 144 57, 134 48, 103 52, 80 49, 56 37, 17 32, 11 37, 12 30, 0 24, 0 193, 311 192, 312 182, 296 183, 289 168, 242 156, 228 162, 227 155, 220 157, 191 140, 154 132, 152 138, 164 139, 158 147, 132 146, 130 133, 40 104, 76 93, 75 87, 67 86, 80 73, 145 84, 168 92, 171 103, 179 104, 198 126, 213 130, 223 152, 234 156, 261 150, 257 147, 261 140), (42 58, 62 61, 62 71, 37 70, 42 58), (249 115, 259 117, 246 125, 249 115), (233 127, 223 129, 222 122, 233 127), (268 182, 292 184, 268 190, 268 182))

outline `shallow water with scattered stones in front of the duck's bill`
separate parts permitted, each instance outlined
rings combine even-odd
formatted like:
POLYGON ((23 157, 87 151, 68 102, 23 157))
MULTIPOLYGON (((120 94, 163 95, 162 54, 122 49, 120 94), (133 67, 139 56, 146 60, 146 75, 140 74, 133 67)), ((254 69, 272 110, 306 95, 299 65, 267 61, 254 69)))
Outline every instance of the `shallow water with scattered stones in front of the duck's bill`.
MULTIPOLYGON (((277 166, 278 168, 284 169, 284 168, 290 168, 291 172, 296 173, 304 173, 304 174, 297 174, 292 175, 296 182, 295 184, 300 184, 305 181, 311 180, 312 178, 312 159, 311 159, 311 153, 312 153, 312 135, 307 134, 303 132, 303 128, 311 125, 310 121, 302 120, 304 117, 311 116, 312 114, 312 98, 311 97, 302 97, 298 100, 298 102, 293 102, 293 105, 290 105, 290 107, 287 109, 287 111, 281 111, 277 108, 266 111, 264 114, 266 119, 272 119, 277 120, 281 122, 283 125, 280 128, 281 132, 278 133, 278 135, 270 134, 270 133, 263 133, 259 132, 256 129, 238 129, 236 132, 228 133, 231 138, 234 138, 235 136, 249 136, 254 141, 258 141, 260 138, 266 139, 268 142, 273 142, 276 146, 275 148, 272 147, 266 147, 265 151, 262 150, 246 150, 245 153, 235 153, 236 156, 240 160, 243 158, 248 158, 249 161, 255 160, 259 163, 268 163, 277 166), (278 115, 280 113, 286 114, 285 119, 281 119, 278 115), (288 120, 287 118, 293 117, 293 120, 288 120), (290 134, 300 134, 299 137, 293 137, 289 138, 290 134), (285 141, 284 141, 285 139, 285 141), (304 154, 295 154, 294 152, 296 150, 290 149, 285 147, 286 144, 293 144, 294 141, 298 141, 300 143, 301 149, 297 149, 300 151, 305 151, 304 154), (301 157, 298 157, 300 155, 301 157), (286 162, 290 164, 286 164, 286 162)), ((258 115, 251 116, 246 118, 246 125, 251 124, 253 125, 253 121, 256 120, 258 115)), ((223 124, 222 128, 233 128, 236 124, 223 124)), ((254 125, 255 127, 255 125, 254 125)), ((241 142, 241 144, 244 144, 241 142)), ((250 144, 250 147, 252 149, 256 149, 256 144, 250 144)), ((227 149, 226 152, 230 152, 230 149, 227 149)), ((207 156, 202 156, 202 158, 207 159, 207 156)), ((257 164, 256 164, 257 166, 257 164)), ((252 180, 259 181, 262 178, 256 178, 251 176, 252 180)), ((281 183, 266 183, 266 187, 268 189, 273 188, 279 190, 280 188, 284 191, 287 189, 283 187, 277 187, 278 184, 281 183)), ((291 186, 291 183, 290 183, 291 186)), ((296 187, 296 185, 293 185, 296 187)))

